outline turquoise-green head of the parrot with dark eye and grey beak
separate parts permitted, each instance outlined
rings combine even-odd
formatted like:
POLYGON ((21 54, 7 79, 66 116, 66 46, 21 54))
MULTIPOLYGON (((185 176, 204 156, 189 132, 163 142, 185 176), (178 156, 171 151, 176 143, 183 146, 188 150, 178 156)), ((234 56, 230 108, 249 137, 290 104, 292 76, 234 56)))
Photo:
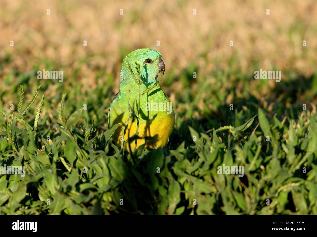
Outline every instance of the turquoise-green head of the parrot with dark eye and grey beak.
MULTIPOLYGON (((142 80, 146 80, 149 84, 155 82, 159 75, 164 75, 165 73, 165 64, 162 54, 157 50, 140 48, 128 54, 122 64, 121 72, 123 72, 124 75, 130 74, 127 62, 130 64, 134 74, 138 72, 136 64, 139 63, 142 80)), ((125 78, 125 76, 121 77, 120 81, 122 82, 125 78)))

